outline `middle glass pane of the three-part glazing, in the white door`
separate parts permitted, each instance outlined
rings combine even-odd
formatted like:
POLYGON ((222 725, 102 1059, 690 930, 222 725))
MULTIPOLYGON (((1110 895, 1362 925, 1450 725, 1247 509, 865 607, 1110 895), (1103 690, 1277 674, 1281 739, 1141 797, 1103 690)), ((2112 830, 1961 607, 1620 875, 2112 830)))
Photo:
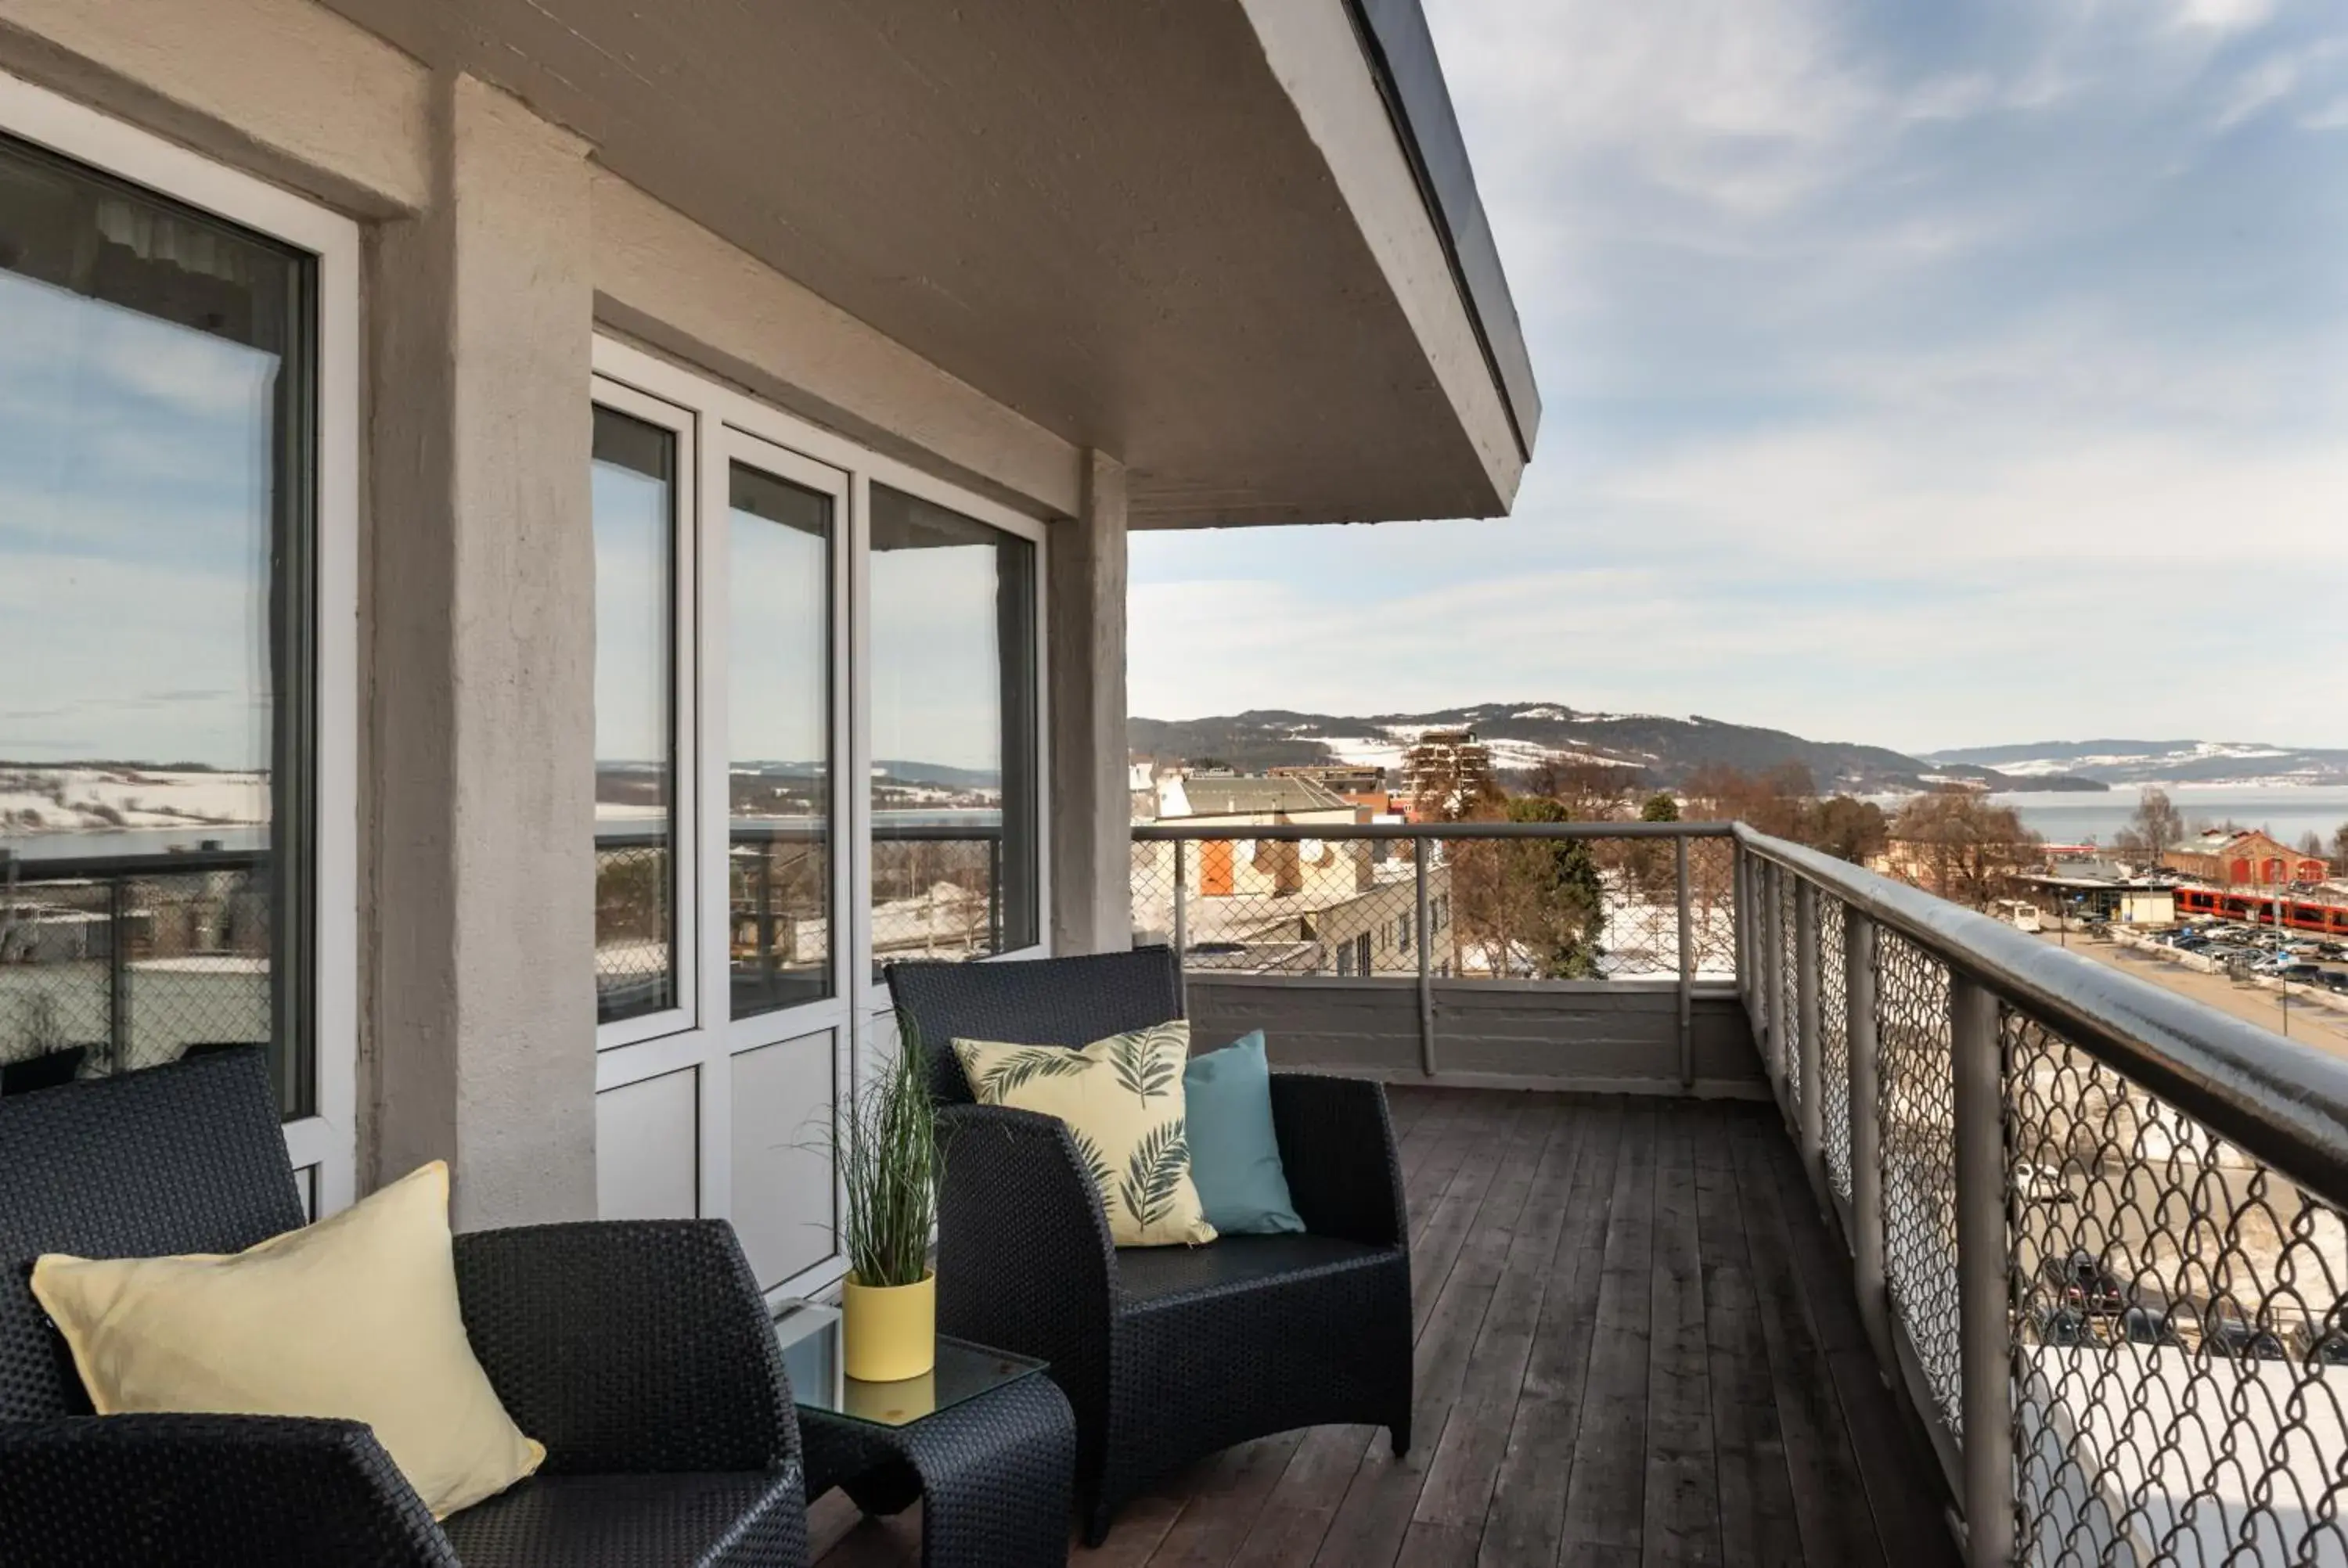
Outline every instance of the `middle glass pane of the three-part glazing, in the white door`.
POLYGON ((733 465, 733 1016, 831 995, 831 498, 733 465))

